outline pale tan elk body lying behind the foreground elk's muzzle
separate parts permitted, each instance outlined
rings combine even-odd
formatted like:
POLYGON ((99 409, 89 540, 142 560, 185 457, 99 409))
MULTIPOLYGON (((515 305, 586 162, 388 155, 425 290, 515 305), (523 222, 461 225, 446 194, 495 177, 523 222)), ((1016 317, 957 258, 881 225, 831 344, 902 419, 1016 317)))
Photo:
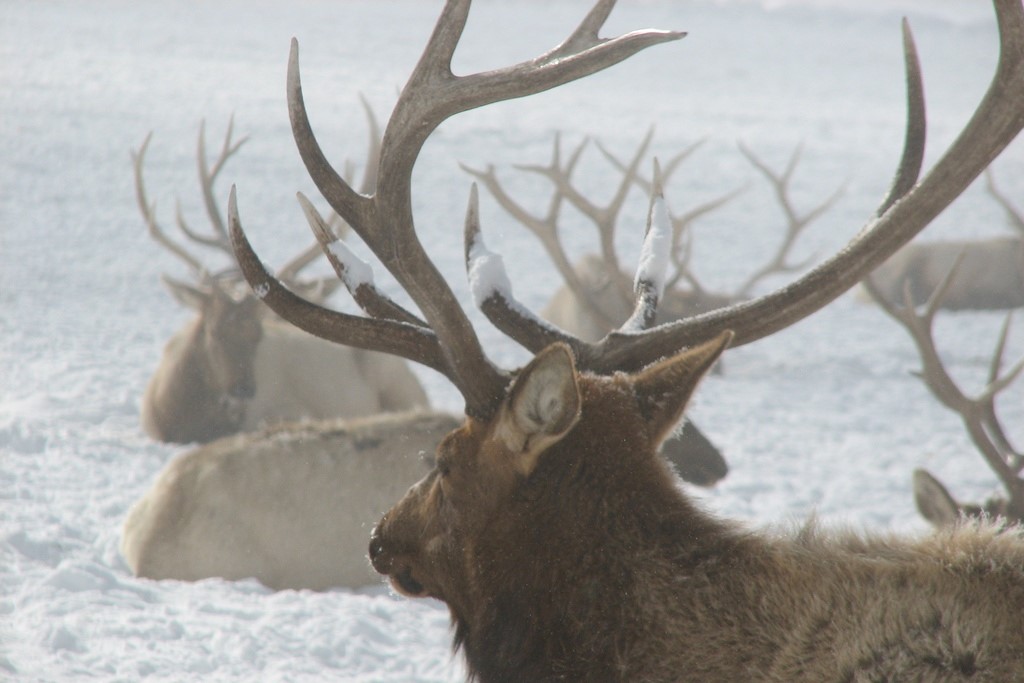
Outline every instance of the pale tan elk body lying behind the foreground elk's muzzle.
POLYGON ((132 507, 122 555, 155 580, 313 591, 379 583, 367 535, 458 425, 442 413, 392 413, 206 443, 172 460, 132 507))

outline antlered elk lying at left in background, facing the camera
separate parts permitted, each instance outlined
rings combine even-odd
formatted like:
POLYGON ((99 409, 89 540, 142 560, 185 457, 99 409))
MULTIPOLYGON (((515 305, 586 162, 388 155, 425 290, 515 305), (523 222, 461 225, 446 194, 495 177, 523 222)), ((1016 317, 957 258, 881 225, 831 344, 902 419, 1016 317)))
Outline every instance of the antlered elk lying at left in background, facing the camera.
MULTIPOLYGON (((374 181, 379 139, 372 112, 371 146, 364 183, 374 181)), ((177 223, 195 244, 231 254, 224 219, 217 209, 214 182, 246 138, 232 140, 228 125, 213 164, 207 159, 205 126, 200 126, 200 187, 211 234, 188 226, 178 209, 177 223)), ((248 291, 237 291, 236 267, 211 272, 198 256, 175 242, 157 220, 145 191, 142 169, 151 137, 132 154, 135 193, 150 234, 184 261, 196 283, 164 278, 175 299, 198 315, 175 333, 142 397, 143 430, 162 441, 207 442, 239 431, 300 419, 360 417, 409 411, 428 404, 416 375, 400 358, 329 344, 283 324, 248 291), (328 378, 322 368, 331 367, 328 378)), ((315 243, 281 269, 280 276, 306 296, 323 301, 337 281, 303 280, 300 272, 319 256, 315 243)))

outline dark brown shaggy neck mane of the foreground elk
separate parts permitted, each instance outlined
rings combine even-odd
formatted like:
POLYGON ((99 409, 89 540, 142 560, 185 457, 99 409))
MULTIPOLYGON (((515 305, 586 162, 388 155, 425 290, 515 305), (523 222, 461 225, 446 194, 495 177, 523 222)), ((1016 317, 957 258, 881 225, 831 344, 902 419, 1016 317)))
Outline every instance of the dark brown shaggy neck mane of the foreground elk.
POLYGON ((642 645, 630 634, 656 630, 667 613, 671 596, 651 587, 739 543, 680 493, 625 385, 584 378, 581 391, 580 423, 518 483, 466 558, 464 604, 452 614, 472 680, 620 678, 642 645))

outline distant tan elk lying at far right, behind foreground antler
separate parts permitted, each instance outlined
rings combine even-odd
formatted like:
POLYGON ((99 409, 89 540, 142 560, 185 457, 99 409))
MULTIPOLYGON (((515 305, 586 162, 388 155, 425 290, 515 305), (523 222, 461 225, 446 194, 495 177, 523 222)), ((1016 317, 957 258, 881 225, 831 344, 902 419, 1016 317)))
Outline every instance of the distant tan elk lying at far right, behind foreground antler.
POLYGON ((911 242, 870 274, 871 297, 903 303, 908 288, 913 305, 925 303, 959 260, 957 276, 941 307, 949 310, 999 310, 1024 306, 1024 214, 985 172, 988 194, 1002 207, 1016 234, 985 240, 911 242))

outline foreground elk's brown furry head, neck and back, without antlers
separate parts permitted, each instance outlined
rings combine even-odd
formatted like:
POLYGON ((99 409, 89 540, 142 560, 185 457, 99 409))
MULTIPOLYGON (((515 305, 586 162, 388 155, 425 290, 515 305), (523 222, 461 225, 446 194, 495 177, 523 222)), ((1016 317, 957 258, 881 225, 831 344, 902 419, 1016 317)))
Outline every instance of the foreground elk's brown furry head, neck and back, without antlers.
POLYGON ((442 441, 374 566, 447 603, 483 683, 1024 680, 1019 535, 754 532, 680 490, 655 449, 728 339, 611 378, 542 352, 442 441))

